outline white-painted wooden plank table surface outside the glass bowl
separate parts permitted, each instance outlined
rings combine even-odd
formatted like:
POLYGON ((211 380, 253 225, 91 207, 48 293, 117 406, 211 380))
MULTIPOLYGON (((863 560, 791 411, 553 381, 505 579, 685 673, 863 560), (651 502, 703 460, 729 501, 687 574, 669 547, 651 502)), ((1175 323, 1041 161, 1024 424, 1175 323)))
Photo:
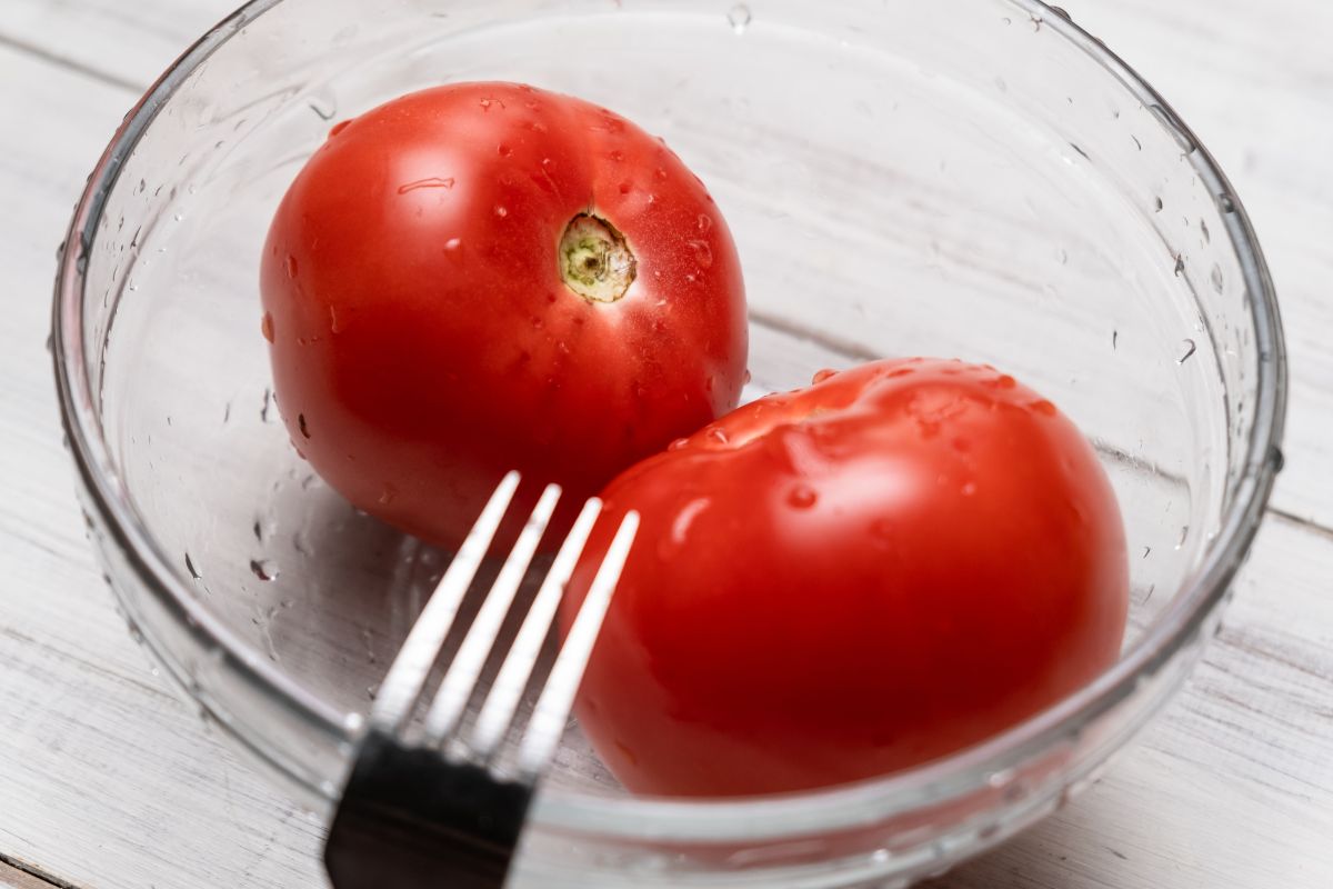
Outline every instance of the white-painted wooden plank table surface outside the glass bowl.
MULTIPOLYGON (((116 617, 43 351, 84 176, 232 3, 0 0, 0 885, 324 885, 321 825, 168 693, 116 617)), ((1096 790, 937 889, 1330 889, 1333 4, 1066 7, 1174 103, 1253 215, 1290 345, 1286 470, 1188 690, 1096 790)))

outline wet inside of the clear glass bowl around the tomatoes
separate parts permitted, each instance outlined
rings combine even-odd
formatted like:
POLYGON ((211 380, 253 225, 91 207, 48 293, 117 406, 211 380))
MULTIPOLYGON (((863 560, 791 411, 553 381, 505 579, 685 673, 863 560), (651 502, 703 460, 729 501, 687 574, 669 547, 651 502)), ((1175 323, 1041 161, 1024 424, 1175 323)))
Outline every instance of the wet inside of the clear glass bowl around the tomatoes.
MULTIPOLYGON (((257 269, 348 116, 528 81, 661 135, 716 196, 748 397, 820 368, 992 363, 1094 443, 1132 558, 1126 652, 1197 572, 1254 424, 1234 207, 1172 113, 1030 4, 285 0, 215 40, 105 195, 84 359, 120 492, 183 594, 333 713, 364 713, 448 561, 295 453, 257 269)), ((619 794, 577 730, 552 776, 619 794)))

